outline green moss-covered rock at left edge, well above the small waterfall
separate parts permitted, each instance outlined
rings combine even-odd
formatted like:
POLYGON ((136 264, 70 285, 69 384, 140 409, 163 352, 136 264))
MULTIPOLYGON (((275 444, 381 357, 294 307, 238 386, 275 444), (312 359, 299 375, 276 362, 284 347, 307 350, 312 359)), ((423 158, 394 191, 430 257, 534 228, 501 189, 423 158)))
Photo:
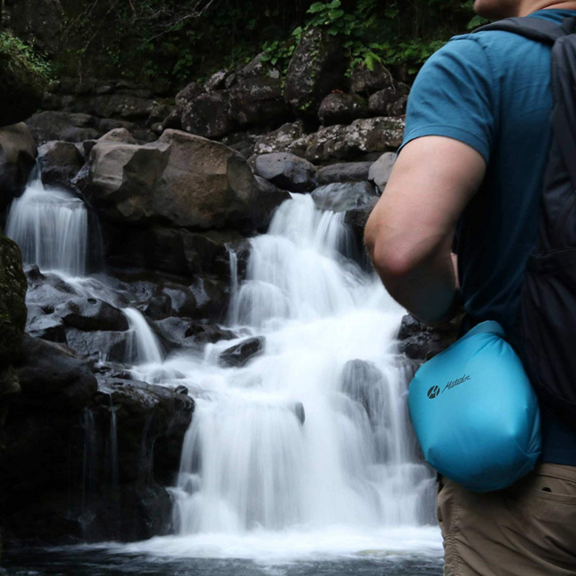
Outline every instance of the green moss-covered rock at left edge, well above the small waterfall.
POLYGON ((50 70, 27 44, 0 33, 0 126, 24 121, 42 104, 50 70))

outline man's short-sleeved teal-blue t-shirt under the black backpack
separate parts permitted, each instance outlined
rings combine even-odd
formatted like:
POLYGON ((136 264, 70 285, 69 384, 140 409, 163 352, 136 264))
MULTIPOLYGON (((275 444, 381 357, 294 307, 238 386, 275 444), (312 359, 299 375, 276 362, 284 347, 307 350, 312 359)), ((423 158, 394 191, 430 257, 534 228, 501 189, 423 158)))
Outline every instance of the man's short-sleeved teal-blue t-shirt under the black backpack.
MULTIPOLYGON (((531 18, 560 24, 576 11, 531 18)), ((486 178, 457 233, 464 306, 514 339, 525 264, 538 233, 550 144, 550 48, 509 32, 456 36, 430 58, 410 93, 404 144, 448 136, 486 160, 486 178)), ((402 145, 404 145, 402 144, 402 145)), ((542 411, 542 459, 576 465, 576 433, 542 411)))

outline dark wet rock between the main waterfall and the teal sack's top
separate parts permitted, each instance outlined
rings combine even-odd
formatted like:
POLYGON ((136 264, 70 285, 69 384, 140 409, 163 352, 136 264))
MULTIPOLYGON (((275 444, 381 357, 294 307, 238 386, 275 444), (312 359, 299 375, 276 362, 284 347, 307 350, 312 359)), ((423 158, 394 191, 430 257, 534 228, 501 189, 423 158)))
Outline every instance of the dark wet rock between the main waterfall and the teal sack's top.
POLYGON ((398 334, 399 351, 412 360, 430 360, 446 350, 456 338, 457 326, 437 330, 416 320, 414 316, 405 315, 398 334))

